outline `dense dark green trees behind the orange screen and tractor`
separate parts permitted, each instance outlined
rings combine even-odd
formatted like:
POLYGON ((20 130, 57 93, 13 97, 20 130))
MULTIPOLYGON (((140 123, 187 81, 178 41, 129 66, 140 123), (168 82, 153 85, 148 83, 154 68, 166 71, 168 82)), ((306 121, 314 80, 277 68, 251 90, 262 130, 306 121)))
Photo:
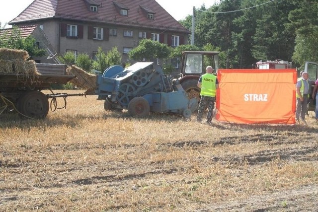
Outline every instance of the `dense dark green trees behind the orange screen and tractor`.
MULTIPOLYGON (((219 48, 222 68, 275 59, 300 67, 318 61, 317 11, 317 0, 220 0, 196 9, 194 44, 219 48)), ((191 30, 192 15, 180 23, 191 30)))

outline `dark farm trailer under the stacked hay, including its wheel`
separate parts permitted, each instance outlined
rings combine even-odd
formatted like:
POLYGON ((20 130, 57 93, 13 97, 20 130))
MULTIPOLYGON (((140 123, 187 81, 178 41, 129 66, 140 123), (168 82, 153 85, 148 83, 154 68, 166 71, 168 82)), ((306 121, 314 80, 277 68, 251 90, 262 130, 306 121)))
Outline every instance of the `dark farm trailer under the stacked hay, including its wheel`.
POLYGON ((36 68, 39 74, 0 73, 0 96, 12 103, 21 115, 44 119, 49 111, 48 99, 59 95, 41 91, 50 89, 52 84, 66 84, 76 76, 66 74, 66 65, 36 64, 36 68))

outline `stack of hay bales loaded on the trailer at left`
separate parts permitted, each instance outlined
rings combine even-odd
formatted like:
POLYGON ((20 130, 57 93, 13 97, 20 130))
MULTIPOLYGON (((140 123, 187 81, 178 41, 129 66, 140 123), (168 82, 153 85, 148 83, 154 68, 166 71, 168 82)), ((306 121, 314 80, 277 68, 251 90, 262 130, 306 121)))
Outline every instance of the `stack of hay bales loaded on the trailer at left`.
POLYGON ((26 51, 0 48, 0 74, 38 75, 35 62, 27 61, 28 58, 29 54, 26 51))

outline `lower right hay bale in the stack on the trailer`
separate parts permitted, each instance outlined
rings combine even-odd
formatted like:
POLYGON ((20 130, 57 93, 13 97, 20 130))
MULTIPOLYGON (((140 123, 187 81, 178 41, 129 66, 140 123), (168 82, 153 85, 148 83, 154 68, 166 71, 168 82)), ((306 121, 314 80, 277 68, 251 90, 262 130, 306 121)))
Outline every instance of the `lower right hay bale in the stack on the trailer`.
POLYGON ((16 74, 23 73, 25 75, 38 75, 39 72, 34 61, 12 60, 13 72, 16 74))

